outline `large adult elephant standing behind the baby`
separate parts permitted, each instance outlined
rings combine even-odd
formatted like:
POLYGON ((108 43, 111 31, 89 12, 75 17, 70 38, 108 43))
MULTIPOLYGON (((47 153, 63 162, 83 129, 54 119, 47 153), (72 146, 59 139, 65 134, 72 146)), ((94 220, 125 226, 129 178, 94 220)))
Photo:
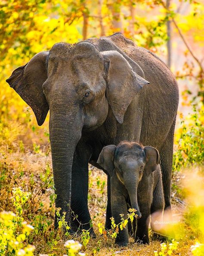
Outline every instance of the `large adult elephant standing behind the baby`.
MULTIPOLYGON (((56 207, 67 213, 67 221, 71 203, 83 228, 90 227, 88 163, 98 166, 102 148, 124 140, 159 150, 165 205, 170 209, 179 92, 170 70, 153 53, 120 33, 75 45, 57 43, 6 81, 31 106, 38 125, 50 111, 56 207)), ((106 227, 111 217, 109 182, 108 176, 106 227)))

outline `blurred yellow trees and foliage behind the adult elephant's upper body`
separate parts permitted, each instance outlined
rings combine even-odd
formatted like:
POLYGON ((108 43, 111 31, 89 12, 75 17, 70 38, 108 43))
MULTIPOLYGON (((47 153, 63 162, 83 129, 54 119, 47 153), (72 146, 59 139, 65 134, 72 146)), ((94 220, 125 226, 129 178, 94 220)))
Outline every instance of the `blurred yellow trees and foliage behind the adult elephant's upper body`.
MULTIPOLYGON (((204 100, 204 2, 193 0, 6 0, 0 5, 0 116, 36 122, 5 79, 56 42, 122 32, 168 64, 180 89, 179 111, 204 100), (200 97, 197 97, 200 96, 200 97)), ((47 118, 48 120, 48 118, 47 118)), ((43 130, 47 129, 43 125, 43 130)), ((37 128, 38 130, 38 128, 37 128)))

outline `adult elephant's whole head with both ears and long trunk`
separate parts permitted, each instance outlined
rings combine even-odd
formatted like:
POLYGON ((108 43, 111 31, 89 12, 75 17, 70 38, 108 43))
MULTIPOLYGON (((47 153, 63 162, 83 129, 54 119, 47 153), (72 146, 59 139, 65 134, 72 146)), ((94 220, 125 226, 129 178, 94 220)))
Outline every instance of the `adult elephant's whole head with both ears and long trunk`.
POLYGON ((67 211, 71 166, 82 128, 102 125, 108 106, 122 123, 130 102, 148 81, 117 51, 99 52, 89 42, 57 43, 14 70, 6 81, 31 106, 38 125, 50 111, 56 207, 67 211), (62 191, 62 184, 67 189, 62 191))

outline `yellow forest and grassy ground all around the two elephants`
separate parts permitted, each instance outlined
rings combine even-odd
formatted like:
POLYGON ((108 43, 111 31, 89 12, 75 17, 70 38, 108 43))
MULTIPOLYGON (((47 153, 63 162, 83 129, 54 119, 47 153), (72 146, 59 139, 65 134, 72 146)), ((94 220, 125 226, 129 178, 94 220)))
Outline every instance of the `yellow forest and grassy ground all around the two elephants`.
MULTIPOLYGON (((15 253, 27 247, 31 250, 26 255, 33 255, 28 243, 36 246, 37 253, 53 253, 57 251, 55 246, 63 244, 59 234, 52 231, 55 196, 50 172, 49 115, 43 126, 38 127, 31 108, 9 88, 6 78, 15 68, 26 64, 34 54, 49 50, 56 42, 76 43, 115 32, 121 32, 136 45, 153 51, 177 78, 180 103, 173 157, 172 200, 176 214, 185 212, 179 227, 182 226, 190 234, 187 231, 182 234, 185 243, 180 242, 182 246, 175 252, 203 255, 199 254, 202 253, 201 243, 204 243, 203 0, 1 0, 0 211, 12 211, 16 215, 8 217, 4 213, 0 217, 2 230, 12 230, 10 237, 4 235, 4 242, 0 240, 0 255, 25 255, 15 253), (186 170, 193 176, 189 178, 186 170), (192 186, 189 186, 189 180, 192 186), (192 199, 195 195, 196 202, 192 199), (192 206, 187 213, 186 198, 192 206), (30 235, 31 230, 22 230, 22 227, 25 228, 23 218, 33 225, 35 236, 30 235), (189 221, 191 218, 193 221, 189 221), (5 224, 5 220, 10 224, 5 224), (14 246, 21 234, 19 230, 25 234, 25 237, 19 238, 19 241, 24 241, 22 247, 14 246), (5 247, 11 237, 13 244, 5 247)), ((98 213, 105 209, 105 182, 104 174, 90 172, 89 204, 98 213), (97 199, 99 197, 100 200, 97 199)), ((98 215, 95 218, 98 220, 98 215)), ((99 240, 88 246, 87 233, 80 239, 87 255, 95 255, 102 248, 99 240)), ((167 249, 168 246, 166 244, 164 247, 167 249)), ((177 248, 174 243, 173 246, 177 248)), ((160 243, 153 243, 148 248, 151 251, 149 255, 154 255, 154 250, 165 249, 160 248, 160 243)), ((141 255, 144 255, 145 247, 143 249, 138 249, 141 255)), ((105 250, 102 249, 104 252, 101 255, 107 255, 105 250)), ((114 253, 113 246, 111 250, 114 253)), ((165 250, 160 255, 170 255, 165 250)), ((174 249, 169 250, 173 252, 174 249)), ((77 254, 70 251, 68 255, 77 254)))

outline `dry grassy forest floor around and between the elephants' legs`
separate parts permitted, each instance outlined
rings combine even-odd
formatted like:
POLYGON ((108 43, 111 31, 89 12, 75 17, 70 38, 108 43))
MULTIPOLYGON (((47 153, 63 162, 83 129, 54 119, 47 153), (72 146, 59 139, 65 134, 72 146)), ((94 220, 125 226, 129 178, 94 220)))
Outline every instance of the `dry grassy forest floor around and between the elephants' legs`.
MULTIPOLYGON (((54 190, 51 166, 50 152, 48 154, 42 153, 40 150, 38 153, 29 150, 27 152, 10 152, 9 154, 1 152, 0 211, 16 211, 12 201, 13 187, 21 187, 23 191, 31 192, 22 213, 23 218, 35 228, 29 236, 28 243, 35 246, 35 255, 60 256, 66 254, 64 247, 66 240, 74 239, 80 243, 82 240, 80 236, 63 237, 60 232, 53 232, 54 190)), ((188 231, 189 227, 183 218, 187 206, 182 195, 183 177, 182 173, 174 175, 172 186, 173 221, 176 223, 175 231, 177 232, 178 229, 183 231, 182 239, 176 239, 176 242, 179 243, 175 251, 160 255, 192 255, 191 246, 195 244, 195 237, 189 235, 191 230, 188 231)), ((162 242, 154 240, 151 231, 149 232, 151 241, 149 245, 135 244, 130 238, 130 243, 126 248, 114 246, 114 240, 111 237, 101 236, 98 223, 104 224, 105 222, 106 202, 106 175, 101 170, 90 166, 88 204, 96 239, 90 238, 86 247, 82 247, 82 252, 85 252, 86 255, 96 254, 99 256, 145 256, 155 255, 154 251, 161 251, 162 242)), ((169 242, 167 241, 166 244, 168 247, 169 242)))

